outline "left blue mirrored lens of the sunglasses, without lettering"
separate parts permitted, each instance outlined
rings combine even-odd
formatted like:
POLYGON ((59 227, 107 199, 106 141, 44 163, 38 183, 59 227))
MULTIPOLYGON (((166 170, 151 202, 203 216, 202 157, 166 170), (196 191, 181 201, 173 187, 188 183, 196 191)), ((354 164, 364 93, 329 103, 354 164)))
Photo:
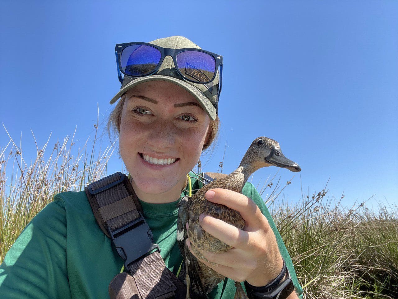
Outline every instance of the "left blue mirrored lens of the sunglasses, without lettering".
POLYGON ((121 53, 121 69, 129 76, 145 76, 156 68, 162 54, 149 45, 130 45, 121 53))

